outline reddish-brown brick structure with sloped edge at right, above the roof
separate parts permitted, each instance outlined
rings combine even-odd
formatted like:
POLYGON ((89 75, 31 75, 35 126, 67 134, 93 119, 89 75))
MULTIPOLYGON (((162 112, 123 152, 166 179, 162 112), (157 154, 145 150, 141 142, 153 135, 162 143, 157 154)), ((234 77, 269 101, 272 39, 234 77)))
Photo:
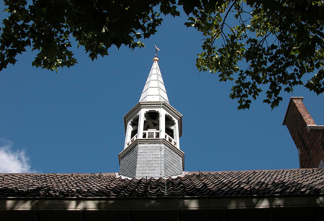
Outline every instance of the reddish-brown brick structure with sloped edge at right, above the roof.
POLYGON ((303 97, 291 97, 284 123, 299 153, 300 168, 324 168, 324 126, 316 125, 303 104, 303 97))

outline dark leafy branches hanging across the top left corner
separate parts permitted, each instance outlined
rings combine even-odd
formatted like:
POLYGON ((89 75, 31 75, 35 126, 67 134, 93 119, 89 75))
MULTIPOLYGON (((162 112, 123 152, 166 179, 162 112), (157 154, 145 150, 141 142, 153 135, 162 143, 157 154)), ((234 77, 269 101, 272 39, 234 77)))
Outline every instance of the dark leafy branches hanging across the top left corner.
POLYGON ((10 16, 3 21, 0 38, 0 70, 15 64, 16 55, 32 50, 39 53, 32 62, 36 67, 56 70, 76 63, 71 52, 73 37, 84 46, 89 57, 108 55, 114 45, 131 49, 143 47, 140 38, 148 38, 160 25, 159 14, 173 15, 169 1, 119 0, 5 0, 10 16))

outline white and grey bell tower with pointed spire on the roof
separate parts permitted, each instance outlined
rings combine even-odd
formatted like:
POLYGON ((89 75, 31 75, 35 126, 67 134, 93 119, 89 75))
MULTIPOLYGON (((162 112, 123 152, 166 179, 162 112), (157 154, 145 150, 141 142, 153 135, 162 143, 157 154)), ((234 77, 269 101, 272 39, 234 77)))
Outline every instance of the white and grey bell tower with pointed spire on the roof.
POLYGON ((167 178, 182 173, 182 114, 169 103, 156 55, 139 103, 124 116, 124 124, 125 145, 118 155, 120 175, 167 178))

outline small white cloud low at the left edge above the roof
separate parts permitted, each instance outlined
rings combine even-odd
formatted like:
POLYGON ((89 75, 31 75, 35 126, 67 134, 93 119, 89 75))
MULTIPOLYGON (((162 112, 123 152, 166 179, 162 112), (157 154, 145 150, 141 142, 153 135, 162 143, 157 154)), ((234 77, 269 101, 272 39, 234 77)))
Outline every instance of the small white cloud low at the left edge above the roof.
POLYGON ((0 172, 35 172, 30 170, 29 158, 24 150, 13 150, 13 143, 0 139, 0 172))

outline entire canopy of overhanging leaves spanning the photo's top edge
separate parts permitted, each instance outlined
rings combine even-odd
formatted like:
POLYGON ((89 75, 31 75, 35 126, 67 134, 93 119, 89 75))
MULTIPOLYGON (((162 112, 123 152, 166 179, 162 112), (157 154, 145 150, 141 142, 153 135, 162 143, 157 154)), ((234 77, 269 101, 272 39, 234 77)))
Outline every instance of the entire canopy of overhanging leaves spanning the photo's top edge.
POLYGON ((282 90, 305 85, 324 92, 324 4, 309 0, 4 0, 8 18, 0 36, 0 70, 15 64, 27 47, 38 51, 33 66, 49 70, 76 63, 71 39, 89 57, 108 55, 111 46, 144 47, 160 14, 188 16, 206 38, 196 66, 234 85, 230 98, 249 108, 265 91, 278 106, 282 90), (231 17, 231 19, 229 19, 231 17), (235 18, 235 23, 233 19, 235 18), (230 20, 230 21, 229 21, 230 20))

